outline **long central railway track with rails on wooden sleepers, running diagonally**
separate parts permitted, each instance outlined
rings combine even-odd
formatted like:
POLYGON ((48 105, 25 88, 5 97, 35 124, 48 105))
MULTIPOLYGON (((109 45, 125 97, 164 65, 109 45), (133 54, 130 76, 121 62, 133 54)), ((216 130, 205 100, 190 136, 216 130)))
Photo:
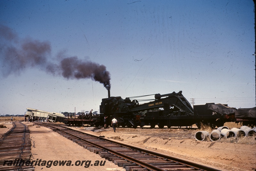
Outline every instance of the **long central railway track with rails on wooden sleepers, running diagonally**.
POLYGON ((51 128, 91 152, 99 154, 102 158, 124 167, 126 171, 219 171, 190 161, 79 132, 65 126, 46 123, 35 124, 51 128))

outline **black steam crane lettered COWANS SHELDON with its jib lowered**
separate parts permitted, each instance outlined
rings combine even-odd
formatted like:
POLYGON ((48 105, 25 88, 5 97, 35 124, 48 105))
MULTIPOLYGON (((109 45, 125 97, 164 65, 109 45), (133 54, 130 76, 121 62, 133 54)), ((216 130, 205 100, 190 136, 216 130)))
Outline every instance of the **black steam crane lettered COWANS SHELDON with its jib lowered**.
POLYGON ((182 91, 170 94, 155 94, 155 100, 139 104, 138 100, 123 99, 120 96, 102 99, 100 113, 115 116, 119 125, 137 127, 150 125, 164 126, 190 126, 194 123, 193 108, 182 95, 182 91), (164 97, 164 98, 162 98, 164 97))

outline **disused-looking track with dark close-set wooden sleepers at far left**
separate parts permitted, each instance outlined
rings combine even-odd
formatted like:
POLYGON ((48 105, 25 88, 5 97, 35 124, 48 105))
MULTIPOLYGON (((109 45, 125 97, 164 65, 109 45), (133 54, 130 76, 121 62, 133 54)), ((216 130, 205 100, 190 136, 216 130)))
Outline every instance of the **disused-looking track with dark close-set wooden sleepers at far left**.
POLYGON ((0 137, 0 171, 34 171, 28 126, 13 122, 12 128, 0 137))

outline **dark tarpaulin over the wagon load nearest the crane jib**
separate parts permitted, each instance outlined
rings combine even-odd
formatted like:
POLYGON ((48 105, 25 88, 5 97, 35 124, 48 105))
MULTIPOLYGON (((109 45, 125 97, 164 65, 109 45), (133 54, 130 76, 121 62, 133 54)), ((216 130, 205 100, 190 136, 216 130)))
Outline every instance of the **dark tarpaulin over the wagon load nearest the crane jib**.
POLYGON ((231 108, 228 106, 224 106, 223 104, 209 104, 207 110, 212 110, 219 115, 229 115, 235 113, 236 108, 231 108))

